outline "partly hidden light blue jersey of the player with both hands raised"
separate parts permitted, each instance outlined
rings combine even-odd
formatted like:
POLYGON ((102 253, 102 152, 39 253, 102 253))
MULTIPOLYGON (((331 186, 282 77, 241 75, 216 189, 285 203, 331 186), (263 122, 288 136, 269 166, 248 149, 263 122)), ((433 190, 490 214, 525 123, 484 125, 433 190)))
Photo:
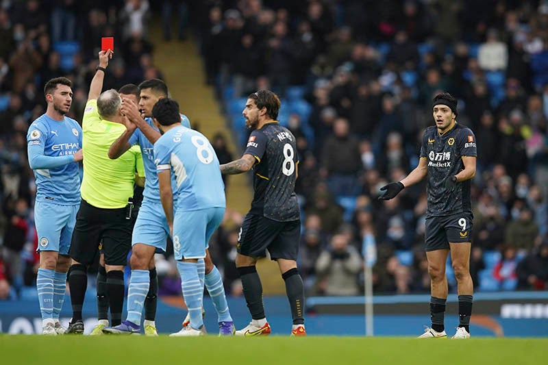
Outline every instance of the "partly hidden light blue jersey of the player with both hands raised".
MULTIPOLYGON (((145 121, 149 123, 155 131, 158 131, 158 129, 154 127, 152 118, 145 118, 145 121)), ((184 125, 184 127, 190 128, 190 121, 188 121, 188 118, 184 114, 181 114, 181 124, 184 125)), ((141 148, 142 161, 145 164, 145 176, 147 177, 147 179, 145 179, 145 191, 142 193, 142 196, 147 199, 160 201, 158 175, 156 174, 156 165, 154 164, 153 144, 148 140, 145 134, 142 134, 140 129, 134 131, 134 134, 129 138, 129 144, 132 146, 138 144, 141 148)), ((172 181, 171 185, 172 188, 175 187, 175 180, 172 181)))

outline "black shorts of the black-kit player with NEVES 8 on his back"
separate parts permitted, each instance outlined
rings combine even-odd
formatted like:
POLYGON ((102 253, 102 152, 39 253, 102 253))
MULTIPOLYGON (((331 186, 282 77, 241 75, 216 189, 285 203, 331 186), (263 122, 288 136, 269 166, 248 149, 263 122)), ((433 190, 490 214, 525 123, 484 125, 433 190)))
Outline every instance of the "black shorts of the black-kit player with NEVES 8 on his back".
POLYGON ((277 222, 264 216, 247 214, 238 236, 238 253, 266 257, 268 249, 272 260, 297 261, 300 239, 300 220, 277 222))

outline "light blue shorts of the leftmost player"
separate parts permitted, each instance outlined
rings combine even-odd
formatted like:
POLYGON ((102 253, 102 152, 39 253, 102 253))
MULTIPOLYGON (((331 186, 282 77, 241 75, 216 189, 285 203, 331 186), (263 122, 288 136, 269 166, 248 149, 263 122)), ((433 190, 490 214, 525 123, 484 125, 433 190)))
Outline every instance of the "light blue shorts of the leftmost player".
POLYGON ((34 225, 38 234, 36 251, 58 251, 68 255, 71 248, 77 205, 59 205, 47 201, 34 203, 34 225))

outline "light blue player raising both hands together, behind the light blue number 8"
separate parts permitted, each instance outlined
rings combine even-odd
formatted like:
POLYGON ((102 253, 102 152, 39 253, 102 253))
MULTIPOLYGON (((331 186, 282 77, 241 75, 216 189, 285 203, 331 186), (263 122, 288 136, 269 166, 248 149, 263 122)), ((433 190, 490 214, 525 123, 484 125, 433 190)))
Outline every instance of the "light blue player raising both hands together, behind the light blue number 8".
MULTIPOLYGON (((158 100, 168 96, 168 90, 164 81, 159 79, 143 81, 139 85, 139 88, 140 101, 138 107, 131 100, 123 99, 123 112, 131 123, 126 125, 127 130, 112 144, 109 151, 110 158, 118 158, 132 145, 139 144, 145 164, 145 174, 147 175, 145 192, 143 193, 144 199, 134 227, 132 258, 130 260, 132 279, 129 283, 129 288, 135 289, 139 287, 141 290, 135 292, 135 294, 134 290, 129 290, 128 292, 128 296, 132 295, 136 297, 135 299, 132 297, 131 300, 128 300, 128 303, 135 303, 137 301, 138 308, 131 310, 131 312, 129 312, 128 308, 127 320, 136 325, 140 325, 142 315, 140 306, 142 306, 143 302, 141 299, 143 297, 140 296, 140 292, 147 287, 145 283, 145 270, 154 267, 153 257, 157 249, 165 251, 166 239, 169 234, 169 227, 166 223, 162 203, 160 203, 158 177, 156 175, 153 155, 153 142, 160 138, 160 131, 153 125, 151 119, 153 106, 158 100)), ((180 114, 180 123, 190 128, 190 122, 183 114, 180 114)), ((173 179, 172 184, 175 186, 175 179, 173 179)), ((204 274, 200 279, 201 281, 205 281, 205 286, 212 297, 218 314, 220 333, 223 335, 232 335, 233 321, 228 310, 221 273, 219 273, 219 270, 212 263, 209 252, 207 253, 206 260, 199 260, 199 265, 205 266, 205 270, 201 271, 204 274)), ((150 273, 149 276, 151 279, 150 273)), ((151 285, 151 280, 149 280, 149 289, 151 285)), ((149 296, 150 292, 146 295, 147 300, 149 296)), ((143 323, 145 333, 150 331, 151 328, 155 328, 155 324, 151 320, 153 312, 148 310, 146 304, 147 301, 145 301, 145 322, 143 323)), ((134 330, 137 331, 138 329, 134 330)), ((112 331, 110 332, 112 333, 112 331)))

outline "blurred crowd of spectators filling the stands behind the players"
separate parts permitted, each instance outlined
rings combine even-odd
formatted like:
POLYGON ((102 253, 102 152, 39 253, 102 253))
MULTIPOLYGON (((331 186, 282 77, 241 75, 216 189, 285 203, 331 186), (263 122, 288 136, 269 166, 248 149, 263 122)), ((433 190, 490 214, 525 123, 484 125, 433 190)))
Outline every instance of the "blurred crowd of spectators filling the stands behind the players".
MULTIPOLYGON (((151 5, 0 1, 0 299, 23 296, 36 279, 36 186, 25 134, 45 112, 43 84, 69 77, 69 116, 81 122, 97 40, 114 34, 123 40, 105 89, 162 78, 147 37, 151 5)), ((429 291, 424 185, 390 201, 377 197, 380 186, 416 166, 420 136, 432 125, 430 101, 440 90, 458 97, 458 122, 477 138, 475 286, 548 289, 548 3, 207 0, 162 6, 177 7, 182 19, 188 12, 208 83, 241 147, 249 92, 271 88, 282 97, 279 121, 297 137, 301 158, 299 267, 308 294, 360 294, 362 242, 370 239, 377 246, 375 292, 429 291)), ((178 38, 185 37, 183 21, 178 38)), ((221 164, 232 160, 222 137, 212 143, 221 164)), ((241 221, 227 210, 210 245, 234 295, 241 294, 234 266, 241 221)), ((171 252, 157 260, 160 295, 180 293, 171 252)))

